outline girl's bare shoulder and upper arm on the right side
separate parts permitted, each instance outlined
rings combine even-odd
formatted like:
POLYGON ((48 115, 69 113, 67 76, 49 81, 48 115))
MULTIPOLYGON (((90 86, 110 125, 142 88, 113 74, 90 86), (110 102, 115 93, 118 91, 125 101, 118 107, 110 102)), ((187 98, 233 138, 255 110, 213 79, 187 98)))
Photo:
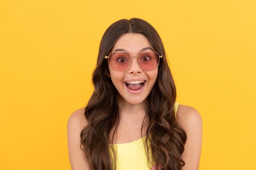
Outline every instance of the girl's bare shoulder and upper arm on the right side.
POLYGON ((191 106, 178 105, 177 121, 184 128, 187 140, 182 159, 182 170, 198 170, 202 147, 202 118, 198 110, 191 106))

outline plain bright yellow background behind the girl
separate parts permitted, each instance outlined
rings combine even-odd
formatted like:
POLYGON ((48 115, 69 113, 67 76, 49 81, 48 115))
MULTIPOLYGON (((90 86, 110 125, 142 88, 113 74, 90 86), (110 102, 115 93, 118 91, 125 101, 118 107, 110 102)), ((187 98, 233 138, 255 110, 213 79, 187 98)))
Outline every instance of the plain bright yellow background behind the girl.
POLYGON ((66 126, 86 105, 104 31, 159 32, 177 102, 202 115, 200 170, 251 170, 256 152, 255 0, 3 0, 0 169, 70 170, 66 126))

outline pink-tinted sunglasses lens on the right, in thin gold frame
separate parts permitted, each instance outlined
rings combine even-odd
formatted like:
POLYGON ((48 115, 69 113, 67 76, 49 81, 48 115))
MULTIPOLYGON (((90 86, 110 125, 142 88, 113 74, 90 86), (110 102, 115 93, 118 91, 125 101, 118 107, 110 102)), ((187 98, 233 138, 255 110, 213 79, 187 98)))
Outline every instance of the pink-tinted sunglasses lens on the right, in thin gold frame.
POLYGON ((151 71, 157 68, 159 63, 159 54, 153 51, 146 51, 139 54, 139 66, 144 71, 151 71))

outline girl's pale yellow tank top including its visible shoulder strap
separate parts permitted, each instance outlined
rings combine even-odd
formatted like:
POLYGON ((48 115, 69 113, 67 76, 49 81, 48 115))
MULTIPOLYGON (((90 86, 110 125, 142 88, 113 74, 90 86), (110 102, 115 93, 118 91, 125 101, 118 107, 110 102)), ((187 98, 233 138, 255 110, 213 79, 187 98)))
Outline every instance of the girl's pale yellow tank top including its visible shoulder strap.
MULTIPOLYGON (((179 103, 175 103, 175 116, 179 103)), ((154 170, 148 166, 143 140, 145 137, 126 144, 113 144, 117 152, 117 170, 154 170)))

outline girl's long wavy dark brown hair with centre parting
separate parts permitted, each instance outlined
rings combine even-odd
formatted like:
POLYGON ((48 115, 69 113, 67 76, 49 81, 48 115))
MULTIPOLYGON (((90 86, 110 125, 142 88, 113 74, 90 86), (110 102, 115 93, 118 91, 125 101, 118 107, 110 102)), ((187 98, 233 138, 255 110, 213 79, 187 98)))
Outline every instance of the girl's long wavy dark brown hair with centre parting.
POLYGON ((92 75, 94 92, 85 107, 88 125, 81 131, 81 149, 91 170, 115 170, 116 152, 112 145, 120 121, 117 104, 118 91, 107 75, 108 55, 118 38, 125 33, 143 34, 155 51, 162 55, 158 66, 157 81, 146 98, 146 127, 144 142, 148 164, 157 170, 181 170, 186 132, 175 116, 176 88, 171 75, 162 40, 148 22, 139 18, 122 19, 111 24, 99 46, 97 66, 92 75), (112 133, 114 131, 114 133, 112 133), (111 153, 112 152, 112 153, 111 153), (113 157, 113 155, 114 157, 113 157), (152 159, 152 160, 151 160, 152 159))

